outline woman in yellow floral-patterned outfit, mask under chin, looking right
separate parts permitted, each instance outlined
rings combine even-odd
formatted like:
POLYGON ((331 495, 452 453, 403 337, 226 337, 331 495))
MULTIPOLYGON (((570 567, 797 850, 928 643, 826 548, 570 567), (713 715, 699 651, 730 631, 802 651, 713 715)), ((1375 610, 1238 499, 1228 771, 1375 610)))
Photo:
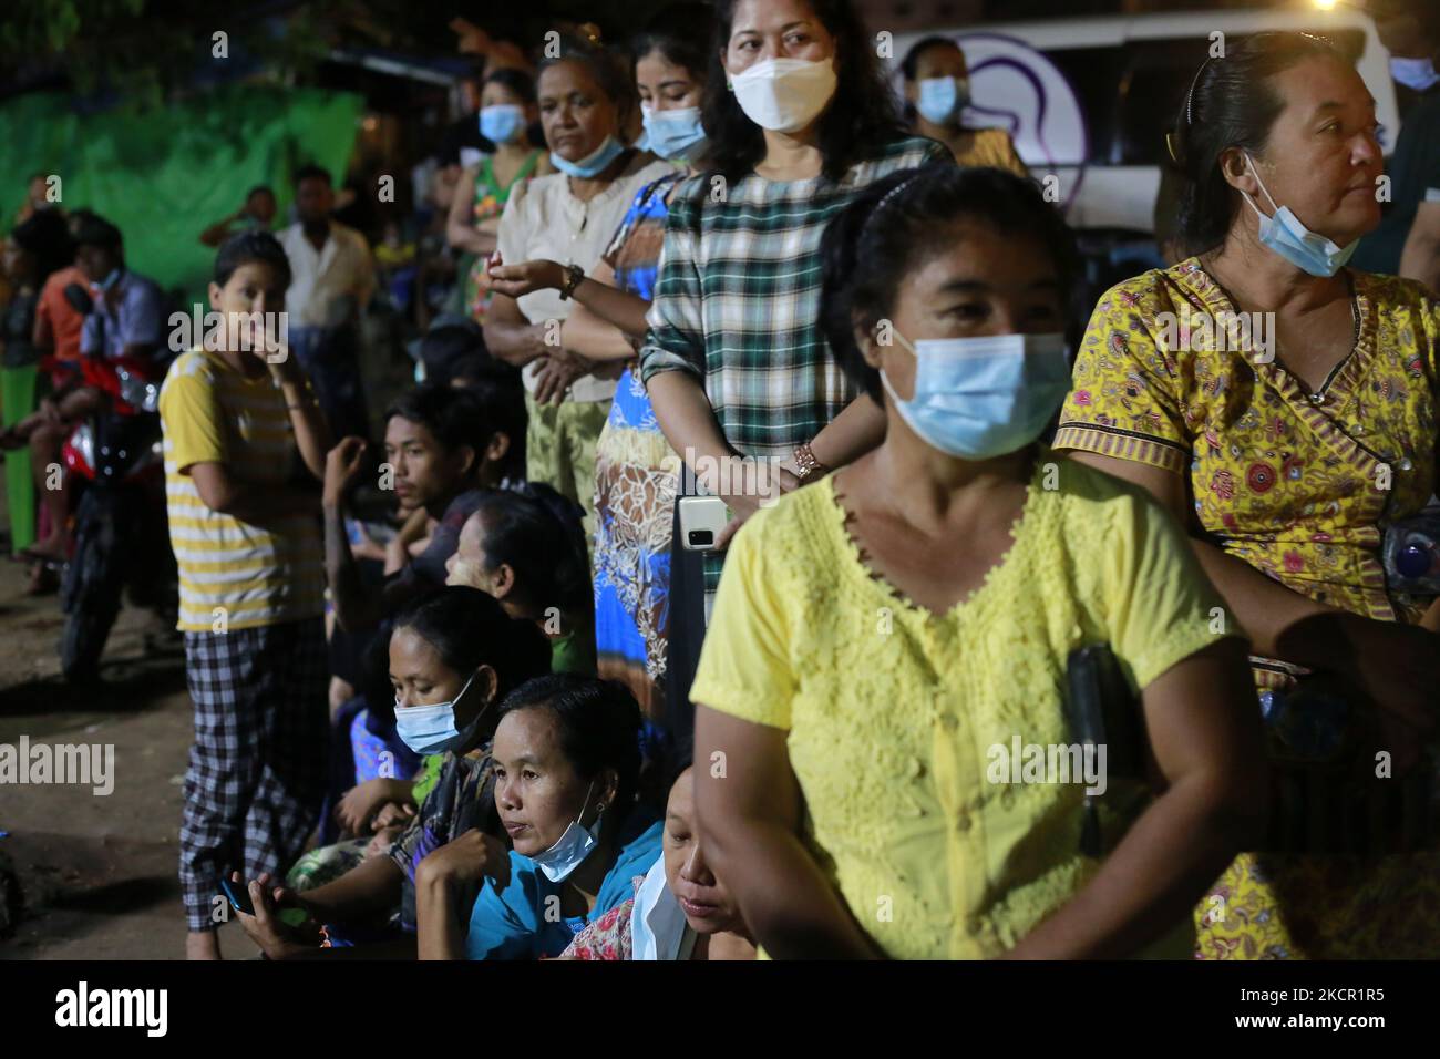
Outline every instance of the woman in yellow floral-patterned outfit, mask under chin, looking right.
POLYGON ((1056 447, 1174 511, 1251 638, 1279 797, 1264 852, 1197 909, 1201 957, 1433 957, 1440 640, 1380 543, 1436 488, 1440 304, 1344 268, 1382 163, 1374 99, 1326 42, 1231 45, 1174 147, 1198 255, 1102 298, 1056 447))

